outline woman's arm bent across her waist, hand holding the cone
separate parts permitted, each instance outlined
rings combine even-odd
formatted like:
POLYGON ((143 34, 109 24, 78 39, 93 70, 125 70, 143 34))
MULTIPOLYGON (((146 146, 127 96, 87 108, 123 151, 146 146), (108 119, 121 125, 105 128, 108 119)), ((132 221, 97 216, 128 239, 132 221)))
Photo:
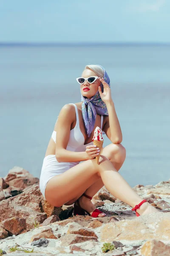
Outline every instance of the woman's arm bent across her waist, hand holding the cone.
POLYGON ((70 137, 71 124, 74 122, 75 108, 73 105, 65 105, 58 116, 55 125, 56 132, 56 159, 58 162, 79 162, 93 159, 97 156, 96 148, 91 145, 86 151, 74 152, 66 150, 70 137))

